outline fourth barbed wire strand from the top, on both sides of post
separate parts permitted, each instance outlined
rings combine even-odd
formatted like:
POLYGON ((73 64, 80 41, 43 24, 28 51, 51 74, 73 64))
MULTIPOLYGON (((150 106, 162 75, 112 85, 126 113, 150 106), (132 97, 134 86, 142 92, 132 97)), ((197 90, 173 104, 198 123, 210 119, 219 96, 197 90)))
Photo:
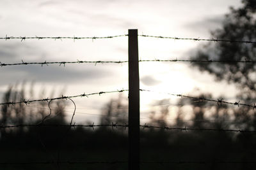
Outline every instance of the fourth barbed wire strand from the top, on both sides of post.
MULTIPOLYGON (((94 127, 111 127, 112 129, 117 127, 122 127, 124 130, 129 128, 128 124, 118 125, 118 123, 112 124, 102 124, 102 125, 95 125, 94 123, 91 125, 68 125, 68 124, 19 124, 19 125, 1 125, 0 129, 6 128, 15 128, 15 127, 88 127, 94 130, 94 127)), ((215 131, 215 132, 241 132, 241 133, 256 133, 256 131, 249 131, 249 130, 241 130, 241 129, 205 129, 205 128, 189 128, 187 127, 161 127, 161 126, 154 126, 154 125, 140 125, 142 130, 144 129, 163 129, 168 131, 215 131)))

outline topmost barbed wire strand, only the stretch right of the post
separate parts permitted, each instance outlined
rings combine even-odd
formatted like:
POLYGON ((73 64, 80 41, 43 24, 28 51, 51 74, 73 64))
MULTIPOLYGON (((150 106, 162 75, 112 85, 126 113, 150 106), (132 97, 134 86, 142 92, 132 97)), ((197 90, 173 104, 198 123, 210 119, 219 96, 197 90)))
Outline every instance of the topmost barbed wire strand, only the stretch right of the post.
POLYGON ((175 40, 177 39, 177 40, 214 41, 214 42, 225 42, 225 43, 250 43, 250 44, 256 44, 255 41, 241 41, 241 40, 218 39, 218 38, 211 38, 211 39, 205 39, 205 38, 179 38, 179 37, 169 37, 169 36, 150 36, 150 35, 143 35, 143 34, 140 34, 138 36, 148 37, 148 38, 175 39, 175 40))

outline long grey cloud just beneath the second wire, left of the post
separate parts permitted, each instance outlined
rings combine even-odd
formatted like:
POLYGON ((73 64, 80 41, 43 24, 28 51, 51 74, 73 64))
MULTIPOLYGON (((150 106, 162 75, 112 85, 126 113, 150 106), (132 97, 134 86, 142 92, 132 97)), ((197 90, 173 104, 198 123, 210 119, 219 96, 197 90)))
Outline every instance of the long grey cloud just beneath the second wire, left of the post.
MULTIPOLYGON (((74 66, 74 65, 73 65, 74 66)), ((72 67, 72 66, 71 66, 72 67)), ((58 83, 73 83, 84 80, 99 80, 111 73, 111 71, 102 69, 100 67, 86 67, 81 70, 63 66, 6 66, 2 67, 0 77, 2 80, 0 85, 15 83, 16 81, 28 80, 36 82, 58 82, 58 83)))

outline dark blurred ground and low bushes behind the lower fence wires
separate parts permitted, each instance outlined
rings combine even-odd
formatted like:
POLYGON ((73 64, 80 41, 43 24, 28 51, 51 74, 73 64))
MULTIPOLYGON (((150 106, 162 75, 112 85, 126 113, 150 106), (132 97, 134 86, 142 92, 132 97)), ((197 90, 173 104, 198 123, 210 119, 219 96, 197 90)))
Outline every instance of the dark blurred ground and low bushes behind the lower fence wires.
MULTIPOLYGON (((4 96, 6 99, 22 100, 22 90, 17 92, 10 88, 4 96)), ((166 100, 159 101, 159 104, 164 102, 166 100)), ((65 119, 65 104, 66 100, 52 101, 52 118, 45 120, 44 124, 70 124, 65 119)), ((231 113, 225 105, 195 103, 189 99, 180 99, 179 104, 174 124, 168 124, 166 119, 169 106, 161 106, 158 112, 152 110, 148 124, 198 129, 256 129, 253 110, 232 107, 231 113), (189 121, 184 120, 187 114, 185 106, 192 110, 189 121), (205 111, 209 109, 212 115, 205 117, 205 111), (152 116, 156 112, 158 118, 152 116)), ((48 114, 49 110, 28 108, 24 104, 2 106, 0 121, 2 125, 38 124, 48 114)), ((100 122, 125 124, 125 115, 127 105, 122 97, 118 97, 106 104, 100 122)), ((0 169, 127 169, 127 142, 124 127, 1 129, 0 169)), ((141 169, 255 169, 255 143, 256 133, 167 131, 141 127, 141 169)))

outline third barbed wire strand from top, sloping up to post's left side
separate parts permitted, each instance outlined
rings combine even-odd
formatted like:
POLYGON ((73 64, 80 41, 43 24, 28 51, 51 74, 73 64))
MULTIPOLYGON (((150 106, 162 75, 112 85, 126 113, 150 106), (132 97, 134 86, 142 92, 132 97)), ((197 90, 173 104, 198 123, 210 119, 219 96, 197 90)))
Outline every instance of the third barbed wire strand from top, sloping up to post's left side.
POLYGON ((29 103, 33 103, 33 102, 39 102, 39 101, 53 101, 53 100, 59 100, 59 99, 68 99, 68 98, 74 98, 74 97, 89 97, 89 96, 93 96, 93 95, 101 95, 101 94, 109 94, 109 93, 115 93, 115 92, 125 92, 125 91, 128 91, 128 90, 115 90, 115 91, 108 91, 108 92, 95 92, 95 93, 90 93, 90 94, 79 94, 79 95, 76 95, 76 96, 61 96, 61 97, 55 97, 55 98, 46 98, 46 99, 35 99, 35 100, 26 100, 24 99, 24 101, 17 101, 17 102, 14 102, 14 101, 10 101, 10 102, 6 102, 6 103, 0 103, 0 105, 13 105, 13 104, 21 104, 21 103, 24 103, 24 104, 29 104, 29 103))

